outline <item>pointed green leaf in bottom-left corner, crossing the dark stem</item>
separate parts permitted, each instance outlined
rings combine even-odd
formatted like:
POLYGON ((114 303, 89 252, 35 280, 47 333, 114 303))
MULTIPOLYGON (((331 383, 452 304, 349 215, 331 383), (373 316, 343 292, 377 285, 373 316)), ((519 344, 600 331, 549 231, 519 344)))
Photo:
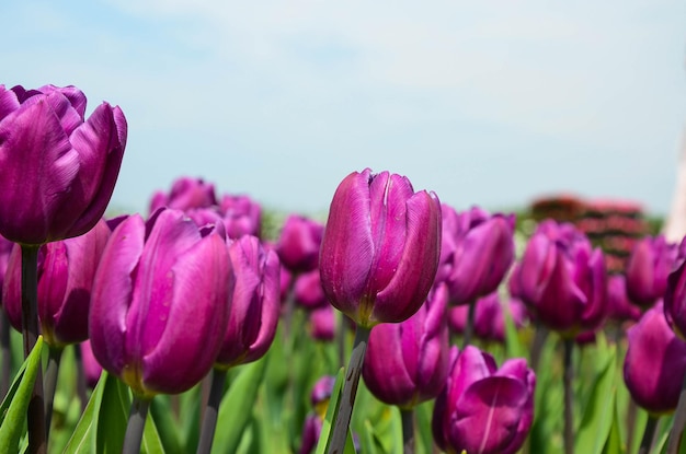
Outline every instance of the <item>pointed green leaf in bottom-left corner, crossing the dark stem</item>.
POLYGON ((41 370, 43 337, 38 336, 36 345, 24 361, 21 372, 14 379, 10 393, 2 403, 2 423, 0 424, 0 452, 19 452, 19 440, 24 434, 26 410, 31 401, 33 385, 41 370), (7 403, 7 405, 5 405, 7 403))

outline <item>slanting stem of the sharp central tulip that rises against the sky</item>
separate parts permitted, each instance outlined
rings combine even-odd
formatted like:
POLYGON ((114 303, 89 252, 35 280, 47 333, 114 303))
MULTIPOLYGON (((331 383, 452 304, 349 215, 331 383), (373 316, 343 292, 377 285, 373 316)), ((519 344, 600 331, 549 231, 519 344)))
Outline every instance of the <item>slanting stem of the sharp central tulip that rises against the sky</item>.
POLYGON ((351 417, 353 416, 353 406, 357 396, 357 385, 359 384, 359 375, 362 374, 362 363, 367 351, 369 341, 369 333, 371 328, 357 326, 355 330, 355 341, 353 342, 353 351, 345 371, 345 382, 343 383, 343 392, 341 394, 339 414, 333 421, 333 433, 330 438, 329 454, 341 454, 345 450, 345 440, 351 426, 351 417))

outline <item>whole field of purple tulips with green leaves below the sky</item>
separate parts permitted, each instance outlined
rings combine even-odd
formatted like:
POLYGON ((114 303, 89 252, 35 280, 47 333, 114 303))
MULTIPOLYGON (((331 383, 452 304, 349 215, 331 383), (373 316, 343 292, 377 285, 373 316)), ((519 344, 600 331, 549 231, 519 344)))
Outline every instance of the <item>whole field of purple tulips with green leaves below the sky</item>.
POLYGON ((196 176, 115 214, 84 113, 0 85, 0 454, 686 453, 686 242, 631 203, 365 168, 322 218, 196 176))

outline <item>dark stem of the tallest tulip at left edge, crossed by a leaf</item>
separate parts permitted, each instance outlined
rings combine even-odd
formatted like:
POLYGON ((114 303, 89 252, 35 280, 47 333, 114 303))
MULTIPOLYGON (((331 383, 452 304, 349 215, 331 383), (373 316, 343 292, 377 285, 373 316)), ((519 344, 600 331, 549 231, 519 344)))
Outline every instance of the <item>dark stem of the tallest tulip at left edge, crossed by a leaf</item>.
MULTIPOLYGON (((39 245, 22 244, 22 335, 24 358, 38 340, 38 251, 39 245)), ((26 415, 30 454, 47 451, 45 433, 45 404, 43 399, 43 370, 38 368, 26 415)))

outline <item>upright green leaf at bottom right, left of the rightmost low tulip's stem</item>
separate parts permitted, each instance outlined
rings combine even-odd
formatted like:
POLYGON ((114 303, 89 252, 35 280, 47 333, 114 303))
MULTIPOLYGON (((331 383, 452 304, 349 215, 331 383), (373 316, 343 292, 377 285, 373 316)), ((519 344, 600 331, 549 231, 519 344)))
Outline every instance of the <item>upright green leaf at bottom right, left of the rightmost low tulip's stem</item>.
POLYGON ((590 399, 575 438, 575 451, 601 454, 610 433, 615 411, 617 368, 614 348, 598 348, 605 358, 593 377, 590 399))

